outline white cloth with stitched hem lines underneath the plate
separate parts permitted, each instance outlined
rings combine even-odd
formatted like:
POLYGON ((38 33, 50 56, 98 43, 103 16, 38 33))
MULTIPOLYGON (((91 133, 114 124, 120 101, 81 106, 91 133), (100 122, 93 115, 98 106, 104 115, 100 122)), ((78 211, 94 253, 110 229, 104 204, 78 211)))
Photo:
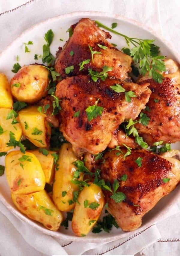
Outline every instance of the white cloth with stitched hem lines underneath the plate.
MULTIPOLYGON (((104 11, 120 14, 152 27, 171 41, 176 50, 180 47, 179 0, 32 0, 27 4, 26 2, 0 1, 0 51, 35 23, 72 11, 104 11), (16 8, 19 5, 22 6, 16 8), (13 8, 16 9, 9 11, 13 8)), ((180 200, 167 215, 167 217, 171 216, 165 220, 141 232, 136 231, 131 237, 107 244, 95 244, 60 241, 44 235, 17 219, 0 203, 0 255, 133 255, 137 253, 149 256, 177 256, 180 255, 179 212, 180 200)))

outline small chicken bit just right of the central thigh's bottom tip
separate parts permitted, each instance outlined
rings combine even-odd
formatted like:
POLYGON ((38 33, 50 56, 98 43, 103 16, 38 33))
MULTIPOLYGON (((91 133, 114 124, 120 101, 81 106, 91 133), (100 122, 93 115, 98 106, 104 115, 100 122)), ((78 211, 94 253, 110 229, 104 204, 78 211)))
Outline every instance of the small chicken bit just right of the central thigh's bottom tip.
POLYGON ((138 147, 137 143, 131 138, 126 136, 125 132, 121 129, 116 129, 112 134, 112 139, 108 144, 108 148, 115 148, 116 146, 124 147, 123 144, 126 146, 135 149, 138 147))

